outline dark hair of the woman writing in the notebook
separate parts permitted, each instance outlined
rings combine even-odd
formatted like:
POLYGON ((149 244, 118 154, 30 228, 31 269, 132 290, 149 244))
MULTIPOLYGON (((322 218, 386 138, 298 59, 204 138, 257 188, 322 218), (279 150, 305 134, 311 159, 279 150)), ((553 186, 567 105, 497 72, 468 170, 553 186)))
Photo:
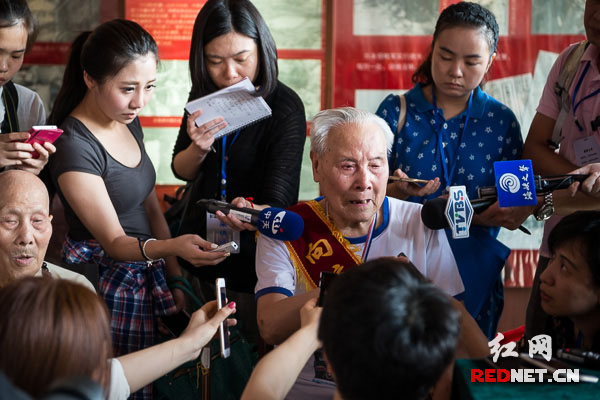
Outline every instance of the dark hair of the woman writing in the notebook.
POLYGON ((254 84, 267 97, 277 86, 277 48, 264 19, 249 0, 209 0, 194 23, 190 49, 190 99, 217 90, 206 69, 204 46, 230 32, 254 39, 258 49, 258 75, 254 84))

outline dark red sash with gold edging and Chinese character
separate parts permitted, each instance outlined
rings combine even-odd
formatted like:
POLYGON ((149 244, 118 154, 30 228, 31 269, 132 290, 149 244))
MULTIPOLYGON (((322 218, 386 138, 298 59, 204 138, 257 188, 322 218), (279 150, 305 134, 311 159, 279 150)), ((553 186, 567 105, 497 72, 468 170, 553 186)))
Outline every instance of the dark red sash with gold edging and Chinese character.
POLYGON ((304 284, 309 291, 317 287, 322 271, 339 274, 362 262, 318 202, 298 203, 290 207, 290 211, 300 214, 304 220, 302 236, 285 242, 296 268, 297 285, 304 284))

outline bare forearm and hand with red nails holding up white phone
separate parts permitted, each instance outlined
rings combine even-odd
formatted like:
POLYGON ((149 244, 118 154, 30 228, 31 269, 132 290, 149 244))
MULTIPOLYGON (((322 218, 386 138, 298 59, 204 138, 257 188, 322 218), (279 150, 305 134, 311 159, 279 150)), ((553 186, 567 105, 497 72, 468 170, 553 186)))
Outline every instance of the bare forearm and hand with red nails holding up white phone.
MULTIPOLYGON (((211 301, 192 314, 180 337, 119 357, 131 392, 198 358, 200 350, 213 338, 219 324, 234 312, 233 302, 217 311, 216 301, 211 301)), ((235 320, 228 320, 228 324, 235 325, 235 320)))

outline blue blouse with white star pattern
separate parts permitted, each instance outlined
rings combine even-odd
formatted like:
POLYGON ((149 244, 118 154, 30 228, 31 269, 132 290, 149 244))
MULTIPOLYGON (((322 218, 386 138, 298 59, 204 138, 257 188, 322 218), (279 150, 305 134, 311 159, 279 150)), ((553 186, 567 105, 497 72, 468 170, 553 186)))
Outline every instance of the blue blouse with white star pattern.
MULTIPOLYGON (((473 91, 464 132, 467 110, 446 121, 441 109, 437 110, 436 117, 433 105, 423 95, 421 84, 405 96, 406 122, 399 134, 396 134, 400 113, 398 96, 387 96, 379 105, 377 115, 386 120, 395 135, 390 173, 400 168, 411 178, 440 178, 440 189, 425 199, 438 197, 449 186, 441 164, 438 135, 442 135, 443 158, 450 185, 465 185, 470 199, 478 197, 479 187, 495 184, 495 161, 521 158, 523 139, 517 118, 508 107, 479 87, 473 91), (448 164, 449 160, 452 163, 448 164)), ((424 199, 410 197, 408 200, 422 203, 424 199)))

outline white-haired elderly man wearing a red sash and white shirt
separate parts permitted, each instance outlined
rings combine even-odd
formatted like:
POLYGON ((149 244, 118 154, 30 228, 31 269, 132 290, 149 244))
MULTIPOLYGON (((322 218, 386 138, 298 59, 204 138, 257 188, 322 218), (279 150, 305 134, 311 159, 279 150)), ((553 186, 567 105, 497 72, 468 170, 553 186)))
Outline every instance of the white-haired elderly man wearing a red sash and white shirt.
MULTIPOLYGON (((322 196, 290 208, 304 219, 302 237, 258 239, 255 292, 265 341, 279 344, 300 328, 299 310, 318 296, 321 272, 341 273, 383 256, 402 253, 444 292, 460 297, 464 287, 444 232, 423 225, 420 204, 385 195, 393 139, 385 121, 351 107, 324 110, 313 119, 310 139, 322 196)), ((317 360, 308 362, 288 398, 332 394, 317 360)))

